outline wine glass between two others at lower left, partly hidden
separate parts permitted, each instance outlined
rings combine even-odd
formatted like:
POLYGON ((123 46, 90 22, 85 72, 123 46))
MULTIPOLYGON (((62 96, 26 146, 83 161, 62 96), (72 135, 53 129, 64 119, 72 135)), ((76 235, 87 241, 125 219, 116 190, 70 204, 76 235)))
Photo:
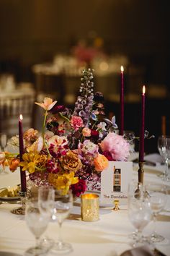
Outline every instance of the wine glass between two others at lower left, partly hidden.
MULTIPOLYGON (((38 206, 42 215, 52 218, 53 216, 53 204, 55 198, 55 190, 53 187, 42 186, 38 189, 38 206)), ((53 239, 49 239, 47 236, 42 239, 42 243, 47 244, 48 247, 53 247, 53 239)))

